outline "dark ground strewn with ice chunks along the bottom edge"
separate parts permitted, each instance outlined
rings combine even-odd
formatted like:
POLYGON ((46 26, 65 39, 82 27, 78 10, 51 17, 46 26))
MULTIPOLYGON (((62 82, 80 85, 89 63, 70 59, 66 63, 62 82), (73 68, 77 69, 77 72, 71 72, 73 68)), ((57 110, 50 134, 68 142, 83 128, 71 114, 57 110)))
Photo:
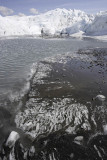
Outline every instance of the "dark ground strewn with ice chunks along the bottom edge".
MULTIPOLYGON (((11 135, 12 133, 10 133, 11 135)), ((16 133, 17 134, 17 133, 16 133)), ((9 135, 9 137, 10 137, 9 135)), ((9 139, 9 138, 8 138, 9 139)), ((89 140, 87 146, 82 145, 83 136, 51 135, 34 141, 29 149, 25 149, 20 139, 9 148, 5 142, 0 151, 1 160, 105 160, 107 158, 107 136, 96 135, 89 140)))

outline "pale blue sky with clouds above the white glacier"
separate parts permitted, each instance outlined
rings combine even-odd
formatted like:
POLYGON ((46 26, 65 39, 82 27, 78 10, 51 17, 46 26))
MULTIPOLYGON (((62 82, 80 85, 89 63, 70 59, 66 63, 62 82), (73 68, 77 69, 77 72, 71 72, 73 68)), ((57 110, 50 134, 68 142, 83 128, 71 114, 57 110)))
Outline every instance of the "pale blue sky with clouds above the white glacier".
POLYGON ((87 13, 107 10, 107 0, 0 0, 0 14, 38 14, 55 8, 80 9, 87 13))

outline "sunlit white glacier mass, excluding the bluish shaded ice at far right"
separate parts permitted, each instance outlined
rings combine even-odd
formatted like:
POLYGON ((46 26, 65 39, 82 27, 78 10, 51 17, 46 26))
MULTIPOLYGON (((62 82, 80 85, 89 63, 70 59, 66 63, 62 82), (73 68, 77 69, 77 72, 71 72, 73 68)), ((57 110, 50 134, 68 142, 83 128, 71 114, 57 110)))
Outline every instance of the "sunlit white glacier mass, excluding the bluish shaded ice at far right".
POLYGON ((0 16, 0 36, 3 35, 40 35, 61 31, 76 33, 90 24, 93 17, 80 10, 55 9, 36 16, 0 16))

